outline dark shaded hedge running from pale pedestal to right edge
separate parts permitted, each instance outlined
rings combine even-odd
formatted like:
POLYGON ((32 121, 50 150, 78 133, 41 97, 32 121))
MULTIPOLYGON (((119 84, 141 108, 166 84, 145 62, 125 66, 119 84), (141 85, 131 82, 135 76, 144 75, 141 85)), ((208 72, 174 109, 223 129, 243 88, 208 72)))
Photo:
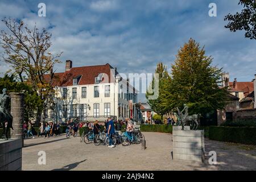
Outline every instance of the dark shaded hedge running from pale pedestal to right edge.
POLYGON ((256 145, 256 127, 210 126, 209 139, 256 145))

